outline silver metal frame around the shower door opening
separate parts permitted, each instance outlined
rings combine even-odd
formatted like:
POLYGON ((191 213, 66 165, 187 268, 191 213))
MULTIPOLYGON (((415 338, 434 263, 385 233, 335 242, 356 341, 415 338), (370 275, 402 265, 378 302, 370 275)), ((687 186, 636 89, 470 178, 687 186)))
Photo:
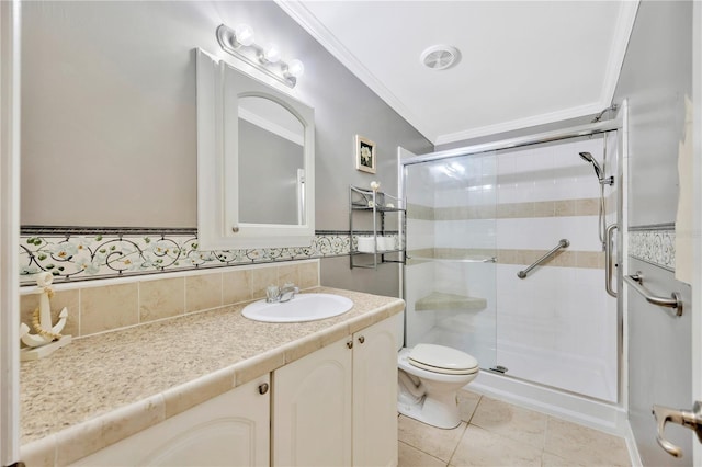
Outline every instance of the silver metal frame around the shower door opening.
MULTIPOLYGON (((437 152, 431 152, 431 153, 420 155, 420 156, 403 158, 398 155, 397 183, 398 183, 399 196, 406 203, 407 186, 406 186, 405 179, 407 175, 406 169, 408 166, 432 162, 437 160, 443 160, 443 159, 461 157, 461 156, 471 156, 471 155, 478 155, 478 153, 485 153, 490 151, 498 151, 500 149, 513 149, 513 148, 525 147, 531 145, 539 145, 543 143, 559 141, 564 139, 577 138, 582 136, 593 136, 593 135, 600 135, 600 134, 605 135, 607 133, 610 133, 610 132, 616 132, 616 135, 618 135, 616 136, 618 138, 616 179, 620 182, 618 183, 618 187, 616 187, 618 190, 616 225, 619 226, 619 228, 616 229, 618 248, 616 248, 615 262, 622 266, 625 266, 624 262, 626 261, 626 255, 624 254, 624 252, 625 252, 626 246, 623 242, 623 238, 624 238, 624 232, 626 231, 625 230, 626 216, 624 216, 623 209, 626 206, 626 202, 624 201, 624 196, 626 195, 626 193, 625 193, 625 190, 623 190, 623 186, 625 183, 624 173, 626 171, 624 170, 624 167, 625 167, 626 150, 627 150, 626 135, 625 135, 626 117, 627 117, 627 103, 626 101, 624 101, 622 105, 620 105, 619 109, 616 109, 615 117, 613 119, 609 119, 604 122, 597 122, 597 123, 590 123, 586 125, 567 127, 567 128, 562 128, 562 129, 556 129, 551 132, 537 133, 533 135, 499 139, 496 141, 469 145, 461 148, 448 149, 448 150, 442 150, 442 151, 437 151, 437 152)), ((405 238, 405 241, 406 241, 406 232, 400 231, 400 236, 401 238, 405 238)), ((615 276, 616 291, 622 289, 623 280, 622 280, 621 271, 625 271, 625 269, 616 267, 616 276, 615 276)), ((405 291, 405 286, 406 286, 405 267, 400 269, 399 283, 400 283, 401 296, 403 298, 405 298, 407 296, 405 291)), ((618 349, 616 385, 618 385, 618 388, 616 388, 616 402, 613 402, 612 405, 625 408, 627 405, 627 401, 626 401, 626 391, 624 390, 624 388, 626 387, 626 371, 625 371, 626 368, 624 367, 626 358, 625 358, 625 346, 624 346, 625 344, 624 344, 624 335, 623 335, 624 309, 625 309, 623 306, 624 298, 625 298, 625 294, 619 294, 619 296, 616 297, 616 349, 618 349)), ((407 335, 406 322, 407 322, 407 319, 405 319, 405 337, 407 335)), ((539 384, 536 385, 539 386, 539 384)), ((578 396, 586 399, 590 399, 590 397, 585 395, 578 395, 578 396)))

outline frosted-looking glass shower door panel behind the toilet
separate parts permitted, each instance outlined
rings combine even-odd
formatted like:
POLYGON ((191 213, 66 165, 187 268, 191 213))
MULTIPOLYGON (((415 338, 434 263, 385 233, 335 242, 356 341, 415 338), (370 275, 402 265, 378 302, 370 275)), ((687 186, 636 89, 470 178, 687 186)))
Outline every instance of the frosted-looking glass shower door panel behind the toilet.
POLYGON ((435 343, 496 366, 495 152, 405 167, 406 345, 435 343))

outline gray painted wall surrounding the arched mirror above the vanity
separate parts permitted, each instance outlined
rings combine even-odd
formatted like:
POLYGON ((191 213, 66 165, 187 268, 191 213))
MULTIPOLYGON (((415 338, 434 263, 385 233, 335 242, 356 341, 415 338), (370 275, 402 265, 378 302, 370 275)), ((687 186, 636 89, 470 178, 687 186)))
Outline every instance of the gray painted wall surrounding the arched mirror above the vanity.
MULTIPOLYGON (((216 42, 220 23, 247 23, 305 64, 292 93, 315 109, 317 229, 348 230, 349 184, 397 192, 397 146, 432 149, 273 2, 23 2, 23 225, 195 226, 191 50, 236 62, 216 42), (376 143, 374 175, 354 168, 356 134, 376 143)), ((397 293, 392 265, 330 263, 335 285, 397 293)))

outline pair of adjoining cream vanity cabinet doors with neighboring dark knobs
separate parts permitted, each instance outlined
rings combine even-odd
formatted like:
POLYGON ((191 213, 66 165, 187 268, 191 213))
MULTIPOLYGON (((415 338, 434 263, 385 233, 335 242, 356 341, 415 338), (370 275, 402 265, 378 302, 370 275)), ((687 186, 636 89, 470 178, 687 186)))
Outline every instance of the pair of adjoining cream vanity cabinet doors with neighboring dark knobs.
POLYGON ((398 319, 273 373, 273 465, 397 465, 398 319))

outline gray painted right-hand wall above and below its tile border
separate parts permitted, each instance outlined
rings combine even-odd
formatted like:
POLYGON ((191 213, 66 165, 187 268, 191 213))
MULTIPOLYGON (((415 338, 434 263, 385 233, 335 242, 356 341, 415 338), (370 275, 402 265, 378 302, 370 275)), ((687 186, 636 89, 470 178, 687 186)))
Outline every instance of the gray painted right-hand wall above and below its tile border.
MULTIPOLYGON (((630 105, 630 226, 672 223, 678 206, 678 144, 683 139, 684 96, 692 95, 692 2, 642 1, 614 102, 630 105)), ((652 291, 683 294, 690 287, 673 273, 633 260, 629 274, 642 271, 652 291)), ((673 318, 629 288, 630 422, 647 466, 691 465, 692 432, 666 429, 684 447, 675 459, 655 441, 653 403, 692 406, 691 322, 673 318)))

